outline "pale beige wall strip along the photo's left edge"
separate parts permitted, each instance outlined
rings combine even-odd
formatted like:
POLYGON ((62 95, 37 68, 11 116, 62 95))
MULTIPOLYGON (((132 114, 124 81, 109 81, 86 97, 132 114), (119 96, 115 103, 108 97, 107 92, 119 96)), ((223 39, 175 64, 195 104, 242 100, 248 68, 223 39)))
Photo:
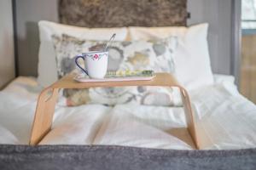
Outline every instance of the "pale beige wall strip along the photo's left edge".
POLYGON ((0 88, 15 77, 12 1, 0 1, 0 88))

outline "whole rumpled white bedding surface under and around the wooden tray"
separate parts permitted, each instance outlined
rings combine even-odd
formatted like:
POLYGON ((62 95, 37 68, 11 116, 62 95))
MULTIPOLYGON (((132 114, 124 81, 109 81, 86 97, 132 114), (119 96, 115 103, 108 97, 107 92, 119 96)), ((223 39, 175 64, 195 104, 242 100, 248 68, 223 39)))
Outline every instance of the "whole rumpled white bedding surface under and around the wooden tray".
MULTIPOLYGON (((232 77, 216 78, 189 91, 203 149, 255 147, 256 106, 238 93, 232 77)), ((0 91, 0 144, 28 144, 41 90, 36 78, 18 77, 0 91)), ((195 148, 182 107, 146 105, 56 105, 53 128, 40 144, 195 148)))

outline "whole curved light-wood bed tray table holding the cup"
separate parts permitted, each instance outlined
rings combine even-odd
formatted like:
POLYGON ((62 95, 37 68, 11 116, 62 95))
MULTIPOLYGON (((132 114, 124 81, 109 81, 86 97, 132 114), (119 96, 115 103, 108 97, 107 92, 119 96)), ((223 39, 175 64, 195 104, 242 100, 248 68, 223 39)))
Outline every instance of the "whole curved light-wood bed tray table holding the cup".
POLYGON ((55 104, 58 98, 58 92, 61 88, 96 88, 96 87, 122 87, 122 86, 165 86, 177 87, 180 89, 183 109, 185 112, 186 122, 189 134, 199 149, 198 136, 195 131, 195 117, 190 105, 189 94, 172 76, 168 73, 156 73, 150 81, 126 81, 126 82, 75 82, 74 73, 62 77, 49 88, 45 88, 38 97, 38 105, 32 125, 32 135, 29 144, 38 144, 44 136, 49 133, 52 125, 52 119, 55 112, 55 104))

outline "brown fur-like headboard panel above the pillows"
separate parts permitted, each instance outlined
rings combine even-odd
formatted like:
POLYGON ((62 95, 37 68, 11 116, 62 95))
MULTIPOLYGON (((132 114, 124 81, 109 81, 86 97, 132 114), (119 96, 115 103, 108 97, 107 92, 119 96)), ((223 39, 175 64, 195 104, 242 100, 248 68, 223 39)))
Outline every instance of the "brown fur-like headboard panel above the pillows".
POLYGON ((187 0, 60 0, 63 24, 85 27, 186 26, 187 0))

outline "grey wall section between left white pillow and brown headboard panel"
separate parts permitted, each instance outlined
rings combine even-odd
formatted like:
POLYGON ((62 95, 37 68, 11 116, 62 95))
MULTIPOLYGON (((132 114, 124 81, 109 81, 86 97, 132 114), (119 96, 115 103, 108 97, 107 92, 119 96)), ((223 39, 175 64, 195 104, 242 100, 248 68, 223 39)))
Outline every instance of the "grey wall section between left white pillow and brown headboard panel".
POLYGON ((15 0, 18 73, 25 76, 37 76, 39 50, 39 20, 58 21, 58 0, 15 0))

